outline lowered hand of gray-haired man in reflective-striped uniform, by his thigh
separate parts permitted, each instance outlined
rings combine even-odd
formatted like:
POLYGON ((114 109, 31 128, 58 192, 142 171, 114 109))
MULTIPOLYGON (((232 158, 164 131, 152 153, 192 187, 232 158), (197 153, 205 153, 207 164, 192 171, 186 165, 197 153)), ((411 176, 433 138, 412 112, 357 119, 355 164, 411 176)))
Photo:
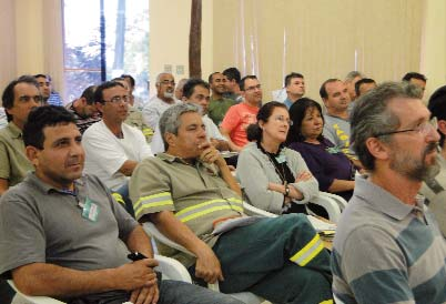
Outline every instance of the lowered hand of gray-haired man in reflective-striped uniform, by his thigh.
POLYGON ((204 245, 196 257, 195 276, 206 283, 214 284, 217 280, 224 281, 220 261, 207 245, 204 245))

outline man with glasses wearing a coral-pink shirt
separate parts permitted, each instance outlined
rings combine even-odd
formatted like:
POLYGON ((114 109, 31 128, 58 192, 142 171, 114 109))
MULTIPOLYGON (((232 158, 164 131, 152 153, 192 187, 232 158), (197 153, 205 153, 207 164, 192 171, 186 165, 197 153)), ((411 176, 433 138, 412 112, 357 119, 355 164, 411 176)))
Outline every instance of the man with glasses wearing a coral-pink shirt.
POLYGON ((236 152, 247 143, 246 126, 256 122, 259 107, 262 104, 262 87, 255 75, 244 77, 240 81, 240 89, 243 102, 227 110, 220 126, 231 150, 236 152))

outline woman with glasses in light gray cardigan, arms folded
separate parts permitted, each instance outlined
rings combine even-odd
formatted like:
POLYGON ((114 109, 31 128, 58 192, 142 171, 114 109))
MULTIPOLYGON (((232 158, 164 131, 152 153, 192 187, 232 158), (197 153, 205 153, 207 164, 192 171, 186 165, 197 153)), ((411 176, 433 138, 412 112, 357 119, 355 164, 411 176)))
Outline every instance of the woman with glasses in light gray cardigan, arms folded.
POLYGON ((264 104, 257 123, 250 125, 250 142, 239 155, 236 174, 249 202, 282 214, 305 212, 304 204, 318 194, 317 181, 302 156, 283 145, 292 121, 286 107, 264 104))

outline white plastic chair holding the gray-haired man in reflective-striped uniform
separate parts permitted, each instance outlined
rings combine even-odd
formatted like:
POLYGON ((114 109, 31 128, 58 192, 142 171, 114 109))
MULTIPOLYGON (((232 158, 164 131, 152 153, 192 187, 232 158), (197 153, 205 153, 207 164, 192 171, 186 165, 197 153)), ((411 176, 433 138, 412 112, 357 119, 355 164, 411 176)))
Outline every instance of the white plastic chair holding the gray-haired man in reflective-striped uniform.
MULTIPOLYGON (((164 234, 162 234, 153 223, 146 222, 146 223, 143 224, 143 227, 144 227, 145 232, 150 236, 152 236, 153 239, 156 239, 162 244, 194 256, 194 254, 192 252, 187 251, 182 245, 173 242, 172 240, 166 237, 164 234)), ((184 266, 183 266, 183 268, 185 270, 184 266)), ((215 291, 215 292, 220 292, 219 283, 209 284, 207 287, 210 290, 215 291)), ((235 297, 235 298, 237 298, 237 300, 240 300, 240 301, 242 301, 242 302, 244 302, 246 304, 260 304, 260 303, 262 303, 264 301, 262 297, 256 296, 255 294, 250 293, 250 292, 232 293, 232 294, 229 294, 229 295, 231 295, 231 296, 233 296, 233 297, 235 297)))

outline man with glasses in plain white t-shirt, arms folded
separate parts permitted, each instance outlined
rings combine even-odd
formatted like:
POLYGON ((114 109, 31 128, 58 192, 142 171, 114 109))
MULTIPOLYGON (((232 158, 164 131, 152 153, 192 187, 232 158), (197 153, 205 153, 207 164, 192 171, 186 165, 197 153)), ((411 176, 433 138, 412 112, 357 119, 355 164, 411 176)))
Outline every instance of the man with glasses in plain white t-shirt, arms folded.
POLYGON ((94 92, 102 121, 82 136, 85 173, 97 175, 109 189, 128 195, 128 180, 134 168, 152 152, 143 133, 124 123, 129 111, 129 90, 120 82, 107 81, 94 92))

